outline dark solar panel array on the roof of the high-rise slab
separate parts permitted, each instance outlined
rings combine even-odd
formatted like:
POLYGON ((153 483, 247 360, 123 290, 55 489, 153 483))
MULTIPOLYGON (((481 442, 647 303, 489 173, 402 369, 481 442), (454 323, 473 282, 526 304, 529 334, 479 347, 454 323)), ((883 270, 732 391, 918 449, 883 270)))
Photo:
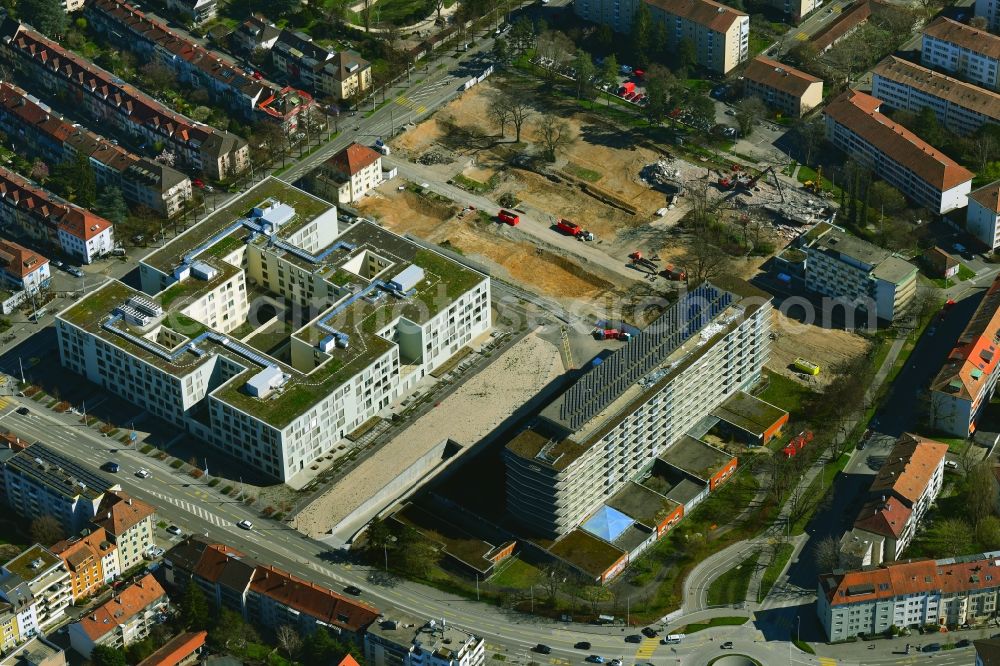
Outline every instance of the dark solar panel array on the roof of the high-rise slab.
POLYGON ((662 364, 729 307, 734 298, 707 282, 688 292, 645 331, 563 393, 559 419, 572 430, 580 428, 662 364))

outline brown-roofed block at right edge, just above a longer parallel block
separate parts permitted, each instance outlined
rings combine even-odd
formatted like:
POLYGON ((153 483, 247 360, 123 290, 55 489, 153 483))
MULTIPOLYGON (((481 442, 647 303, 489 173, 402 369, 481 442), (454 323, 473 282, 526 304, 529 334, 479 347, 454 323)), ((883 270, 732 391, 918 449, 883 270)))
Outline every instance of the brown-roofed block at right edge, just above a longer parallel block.
POLYGON ((977 86, 997 90, 1000 37, 939 16, 924 28, 920 47, 924 67, 941 69, 977 86))

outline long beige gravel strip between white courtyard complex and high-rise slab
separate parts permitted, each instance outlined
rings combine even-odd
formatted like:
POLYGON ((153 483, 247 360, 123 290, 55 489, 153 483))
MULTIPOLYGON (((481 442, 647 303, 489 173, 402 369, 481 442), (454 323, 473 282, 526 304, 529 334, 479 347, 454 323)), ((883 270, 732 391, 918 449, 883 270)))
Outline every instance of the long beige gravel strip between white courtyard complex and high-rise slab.
MULTIPOLYGON (((564 371, 555 345, 537 333, 525 336, 302 509, 295 517, 295 528, 315 537, 329 533, 442 440, 465 447, 476 444, 520 407, 526 396, 534 396, 564 371), (504 390, 498 391, 498 386, 504 390)), ((345 530, 353 531, 364 522, 352 521, 345 530)))

